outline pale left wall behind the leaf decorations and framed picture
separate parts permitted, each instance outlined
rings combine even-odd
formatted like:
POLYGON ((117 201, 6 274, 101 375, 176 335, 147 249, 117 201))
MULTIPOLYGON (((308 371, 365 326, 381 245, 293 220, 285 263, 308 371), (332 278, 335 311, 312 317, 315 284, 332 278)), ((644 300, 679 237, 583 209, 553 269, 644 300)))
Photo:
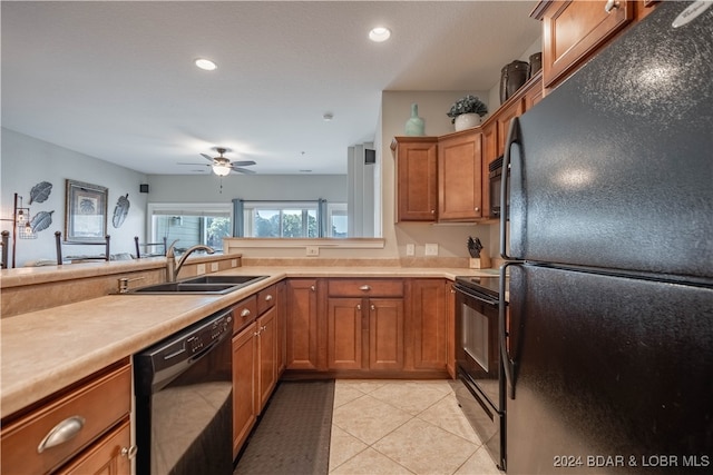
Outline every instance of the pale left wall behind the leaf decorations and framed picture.
MULTIPOLYGON (((22 196, 23 206, 27 207, 30 189, 35 185, 41 181, 52 184, 50 196, 45 202, 30 205, 30 216, 39 211, 55 211, 52 224, 38 232, 37 239, 18 239, 17 267, 21 267, 28 260, 56 258, 55 231, 65 232, 66 179, 108 188, 107 234, 111 236, 111 254, 134 251, 134 236, 143 236, 146 221, 146 195, 139 194, 139 185, 146 182, 145 175, 6 128, 2 128, 1 148, 2 210, 0 217, 3 220, 0 222, 3 230, 12 232, 12 222, 6 219, 12 217, 16 192, 22 196), (129 195, 129 212, 124 224, 119 228, 114 228, 111 224, 114 208, 119 197, 126 194, 129 195)), ((10 245, 12 246, 13 243, 10 245)), ((97 246, 72 246, 70 254, 96 255, 99 253, 98 249, 97 246)), ((9 254, 11 255, 11 251, 9 254)))

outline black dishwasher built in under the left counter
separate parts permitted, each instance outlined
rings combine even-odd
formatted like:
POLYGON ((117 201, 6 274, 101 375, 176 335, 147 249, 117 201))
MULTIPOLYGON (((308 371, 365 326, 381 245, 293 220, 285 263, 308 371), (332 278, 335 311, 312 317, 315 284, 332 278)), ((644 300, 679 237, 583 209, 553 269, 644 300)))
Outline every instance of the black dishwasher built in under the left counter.
POLYGON ((233 472, 232 310, 134 355, 138 475, 233 472))

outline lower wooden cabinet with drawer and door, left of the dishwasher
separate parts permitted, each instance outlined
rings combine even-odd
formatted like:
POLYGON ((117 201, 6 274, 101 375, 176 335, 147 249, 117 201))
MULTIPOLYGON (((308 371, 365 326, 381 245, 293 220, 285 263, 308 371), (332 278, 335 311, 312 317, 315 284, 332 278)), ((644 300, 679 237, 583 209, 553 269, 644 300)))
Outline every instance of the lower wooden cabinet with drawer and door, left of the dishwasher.
POLYGON ((129 474, 131 366, 128 358, 3 418, 2 474, 129 474))

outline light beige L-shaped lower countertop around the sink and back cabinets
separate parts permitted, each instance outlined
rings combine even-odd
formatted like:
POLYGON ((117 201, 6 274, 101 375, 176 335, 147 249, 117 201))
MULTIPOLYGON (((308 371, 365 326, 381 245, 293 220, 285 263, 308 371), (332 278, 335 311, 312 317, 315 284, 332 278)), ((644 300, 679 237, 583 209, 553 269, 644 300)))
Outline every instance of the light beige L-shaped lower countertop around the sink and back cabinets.
MULTIPOLYGON (((461 275, 491 276, 494 270, 246 266, 218 274, 270 277, 226 295, 108 295, 1 319, 0 416, 6 417, 121 358, 138 353, 285 277, 453 279, 461 275)), ((29 275, 26 278, 32 280, 29 275)))

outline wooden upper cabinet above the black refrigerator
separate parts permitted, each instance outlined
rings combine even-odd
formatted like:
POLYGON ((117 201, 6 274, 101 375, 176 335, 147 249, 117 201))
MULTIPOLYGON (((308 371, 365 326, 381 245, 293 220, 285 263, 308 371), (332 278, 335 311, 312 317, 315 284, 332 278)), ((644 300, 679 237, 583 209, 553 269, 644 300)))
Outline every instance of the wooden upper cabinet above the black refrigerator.
POLYGON ((550 88, 589 58, 635 17, 635 1, 543 1, 543 81, 550 88))

